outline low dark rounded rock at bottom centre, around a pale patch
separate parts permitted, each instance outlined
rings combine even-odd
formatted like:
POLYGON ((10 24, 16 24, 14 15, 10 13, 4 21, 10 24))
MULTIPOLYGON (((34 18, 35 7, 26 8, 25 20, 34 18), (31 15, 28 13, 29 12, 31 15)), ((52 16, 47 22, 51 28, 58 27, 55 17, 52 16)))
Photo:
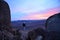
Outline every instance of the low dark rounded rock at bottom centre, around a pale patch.
POLYGON ((38 36, 42 36, 42 40, 45 39, 45 31, 41 28, 37 28, 35 30, 32 30, 28 33, 27 40, 35 40, 38 36))

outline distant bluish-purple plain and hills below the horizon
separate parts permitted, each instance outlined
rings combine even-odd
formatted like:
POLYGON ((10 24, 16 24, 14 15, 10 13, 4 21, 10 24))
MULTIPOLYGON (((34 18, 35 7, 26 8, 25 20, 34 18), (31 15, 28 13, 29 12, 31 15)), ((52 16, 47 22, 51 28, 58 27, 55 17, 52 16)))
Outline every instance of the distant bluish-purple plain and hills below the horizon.
POLYGON ((31 30, 38 27, 44 28, 45 21, 46 20, 18 20, 12 21, 11 26, 20 30, 24 30, 24 27, 25 30, 31 30), (25 24, 25 26, 23 26, 23 23, 25 24))

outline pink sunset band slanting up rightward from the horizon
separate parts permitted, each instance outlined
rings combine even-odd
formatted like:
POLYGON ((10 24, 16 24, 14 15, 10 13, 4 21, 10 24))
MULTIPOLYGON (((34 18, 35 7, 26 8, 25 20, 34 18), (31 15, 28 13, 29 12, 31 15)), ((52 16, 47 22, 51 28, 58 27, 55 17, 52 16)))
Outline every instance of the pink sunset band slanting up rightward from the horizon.
POLYGON ((42 12, 35 12, 32 14, 29 14, 28 16, 25 16, 23 18, 20 18, 22 20, 41 20, 41 19, 47 19, 51 15, 54 15, 56 13, 60 12, 60 7, 56 8, 50 8, 42 12))

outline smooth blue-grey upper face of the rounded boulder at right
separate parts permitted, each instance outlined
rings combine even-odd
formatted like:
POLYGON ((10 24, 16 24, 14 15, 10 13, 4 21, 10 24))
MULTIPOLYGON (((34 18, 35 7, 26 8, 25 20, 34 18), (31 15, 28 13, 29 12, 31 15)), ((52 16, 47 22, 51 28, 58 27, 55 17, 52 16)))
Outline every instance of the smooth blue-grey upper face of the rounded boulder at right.
POLYGON ((46 20, 45 27, 48 31, 60 32, 60 13, 50 16, 46 20))

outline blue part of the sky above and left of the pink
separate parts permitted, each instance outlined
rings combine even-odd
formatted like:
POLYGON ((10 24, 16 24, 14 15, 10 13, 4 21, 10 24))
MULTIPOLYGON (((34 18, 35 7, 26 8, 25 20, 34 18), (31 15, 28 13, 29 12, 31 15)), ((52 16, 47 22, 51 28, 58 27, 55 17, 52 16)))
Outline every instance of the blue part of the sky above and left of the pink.
POLYGON ((47 9, 60 6, 59 0, 6 0, 6 2, 10 6, 11 20, 22 20, 25 16, 34 14, 35 12, 44 12, 47 9))

